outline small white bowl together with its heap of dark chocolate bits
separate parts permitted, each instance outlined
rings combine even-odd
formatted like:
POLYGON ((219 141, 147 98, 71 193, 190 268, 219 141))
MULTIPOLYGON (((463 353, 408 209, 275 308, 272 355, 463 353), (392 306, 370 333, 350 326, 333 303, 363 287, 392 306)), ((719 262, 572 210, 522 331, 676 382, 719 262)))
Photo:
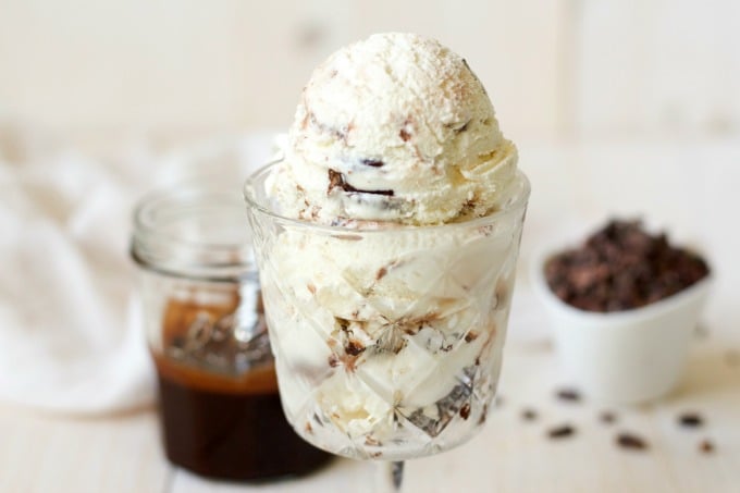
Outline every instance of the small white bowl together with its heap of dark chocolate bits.
POLYGON ((562 366, 587 395, 639 403, 676 387, 711 285, 701 254, 613 219, 531 267, 562 366))

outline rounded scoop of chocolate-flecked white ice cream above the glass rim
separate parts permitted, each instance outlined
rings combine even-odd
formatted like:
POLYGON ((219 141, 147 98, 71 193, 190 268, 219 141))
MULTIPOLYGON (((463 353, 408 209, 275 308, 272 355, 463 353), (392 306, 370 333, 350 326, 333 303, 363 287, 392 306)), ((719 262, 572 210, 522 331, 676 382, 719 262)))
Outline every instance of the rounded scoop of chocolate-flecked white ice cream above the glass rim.
POLYGON ((506 200, 517 151, 467 62, 378 34, 313 72, 272 178, 282 213, 325 224, 441 224, 506 200))

